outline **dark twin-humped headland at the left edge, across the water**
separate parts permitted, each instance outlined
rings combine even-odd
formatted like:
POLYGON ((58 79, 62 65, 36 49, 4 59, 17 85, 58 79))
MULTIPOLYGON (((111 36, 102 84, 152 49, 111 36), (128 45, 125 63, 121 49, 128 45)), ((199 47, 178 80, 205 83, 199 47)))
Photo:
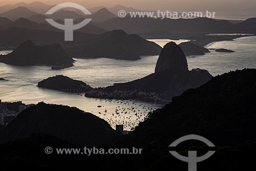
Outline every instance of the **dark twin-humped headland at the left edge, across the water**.
POLYGON ((28 40, 19 45, 12 53, 0 56, 0 62, 10 65, 45 65, 72 67, 74 60, 59 44, 37 46, 28 40))

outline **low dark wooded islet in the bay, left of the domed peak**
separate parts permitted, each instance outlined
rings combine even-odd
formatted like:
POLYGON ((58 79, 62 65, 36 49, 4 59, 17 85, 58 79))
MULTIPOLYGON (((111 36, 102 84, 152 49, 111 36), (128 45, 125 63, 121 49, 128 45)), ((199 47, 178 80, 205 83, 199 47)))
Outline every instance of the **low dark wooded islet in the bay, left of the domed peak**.
POLYGON ((63 75, 56 75, 44 79, 38 82, 38 87, 71 93, 88 92, 93 89, 83 81, 74 80, 63 75))

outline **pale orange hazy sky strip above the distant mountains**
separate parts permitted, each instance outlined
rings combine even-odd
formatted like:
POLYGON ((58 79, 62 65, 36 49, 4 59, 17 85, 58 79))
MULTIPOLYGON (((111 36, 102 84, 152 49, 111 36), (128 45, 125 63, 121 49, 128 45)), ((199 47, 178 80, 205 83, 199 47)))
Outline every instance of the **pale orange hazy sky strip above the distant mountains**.
MULTIPOLYGON (((17 2, 34 2, 36 0, 0 0, 0 4, 14 4, 17 2)), ((37 0, 40 1, 40 0, 37 0)), ((172 10, 172 11, 213 11, 223 14, 241 13, 256 14, 256 0, 41 0, 45 4, 74 2, 86 8, 94 6, 112 7, 120 4, 137 9, 172 10)))

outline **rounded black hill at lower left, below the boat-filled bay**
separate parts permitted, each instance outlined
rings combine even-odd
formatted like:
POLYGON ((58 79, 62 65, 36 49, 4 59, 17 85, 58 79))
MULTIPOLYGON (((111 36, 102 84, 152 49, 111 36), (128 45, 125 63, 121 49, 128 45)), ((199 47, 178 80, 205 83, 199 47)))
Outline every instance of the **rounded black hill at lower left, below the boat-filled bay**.
POLYGON ((91 113, 40 102, 24 110, 0 132, 0 143, 25 139, 33 133, 86 146, 111 143, 117 136, 108 122, 91 113))

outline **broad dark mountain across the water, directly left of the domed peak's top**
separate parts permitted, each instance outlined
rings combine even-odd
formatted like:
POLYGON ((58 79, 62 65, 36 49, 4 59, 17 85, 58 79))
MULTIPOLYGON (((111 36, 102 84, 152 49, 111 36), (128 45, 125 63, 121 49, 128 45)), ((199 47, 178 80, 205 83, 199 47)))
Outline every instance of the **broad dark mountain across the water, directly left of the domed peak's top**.
POLYGON ((143 55, 158 55, 161 47, 136 34, 127 34, 122 30, 113 30, 100 35, 88 37, 83 45, 68 49, 76 57, 115 58, 137 60, 143 55))

